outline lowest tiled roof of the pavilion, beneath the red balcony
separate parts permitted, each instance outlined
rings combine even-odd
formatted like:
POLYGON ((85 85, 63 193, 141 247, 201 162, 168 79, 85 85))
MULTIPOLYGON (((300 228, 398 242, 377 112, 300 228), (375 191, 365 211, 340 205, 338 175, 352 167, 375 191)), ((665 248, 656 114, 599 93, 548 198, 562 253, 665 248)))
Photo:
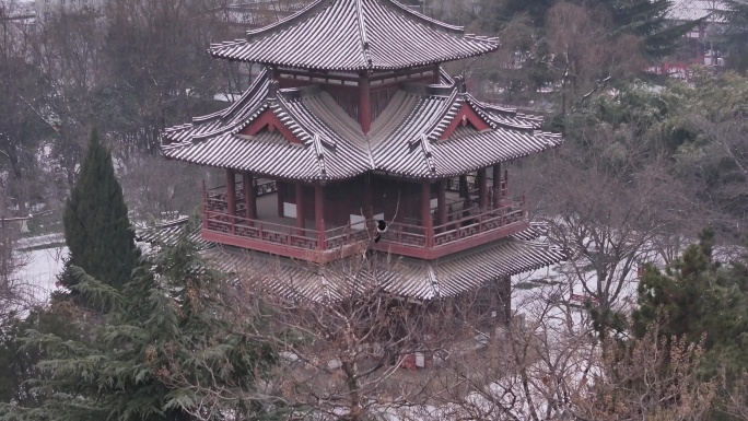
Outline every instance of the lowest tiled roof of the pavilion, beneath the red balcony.
MULTIPOLYGON (((187 222, 182 219, 159 225, 139 233, 138 239, 175 243, 187 222)), ((219 269, 288 299, 336 301, 350 296, 355 289, 378 288, 397 296, 429 301, 457 296, 505 276, 566 260, 562 248, 540 239, 544 232, 542 224, 531 223, 510 237, 435 260, 369 250, 326 265, 206 242, 199 237, 199 226, 189 238, 219 269)))

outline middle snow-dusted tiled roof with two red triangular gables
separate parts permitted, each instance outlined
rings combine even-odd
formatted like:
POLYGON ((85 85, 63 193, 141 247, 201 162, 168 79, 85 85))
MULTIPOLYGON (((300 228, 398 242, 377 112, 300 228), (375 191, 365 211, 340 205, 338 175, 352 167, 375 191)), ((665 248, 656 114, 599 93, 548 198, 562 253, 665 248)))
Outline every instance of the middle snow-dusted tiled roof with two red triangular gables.
POLYGON ((442 178, 562 142, 560 136, 538 130, 540 118, 480 103, 469 94, 458 93, 454 84, 441 86, 439 94, 408 87, 398 91, 364 135, 328 93, 287 89, 270 97, 270 83, 264 73, 249 87, 250 94, 225 110, 167 129, 163 154, 201 165, 304 180, 341 179, 366 171, 442 178), (469 125, 458 126, 441 140, 465 105, 491 128, 478 131, 469 125), (303 144, 290 143, 278 131, 237 135, 268 109, 303 144))

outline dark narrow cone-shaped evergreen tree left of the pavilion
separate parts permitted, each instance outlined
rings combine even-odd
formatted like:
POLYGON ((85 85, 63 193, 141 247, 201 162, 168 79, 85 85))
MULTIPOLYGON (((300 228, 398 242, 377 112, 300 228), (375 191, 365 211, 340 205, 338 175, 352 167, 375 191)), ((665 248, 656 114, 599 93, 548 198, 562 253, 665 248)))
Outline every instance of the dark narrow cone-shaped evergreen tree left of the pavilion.
POLYGON ((140 252, 127 218, 112 154, 94 130, 80 175, 65 207, 65 242, 70 252, 60 283, 75 284, 72 266, 116 289, 130 280, 140 252))

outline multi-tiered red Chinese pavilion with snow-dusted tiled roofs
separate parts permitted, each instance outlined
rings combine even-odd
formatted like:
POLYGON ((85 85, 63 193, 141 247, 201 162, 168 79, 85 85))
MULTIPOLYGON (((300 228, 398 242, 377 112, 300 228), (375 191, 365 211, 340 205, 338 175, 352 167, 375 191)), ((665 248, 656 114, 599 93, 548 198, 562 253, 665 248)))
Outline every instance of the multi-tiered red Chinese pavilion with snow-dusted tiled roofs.
POLYGON ((502 168, 562 139, 440 67, 498 47, 393 0, 317 0, 212 45, 265 69, 230 107, 163 133, 167 159, 225 168, 225 186, 203 185, 202 238, 226 267, 312 299, 339 295, 330 268, 362 247, 397 256, 363 278, 422 302, 563 259, 502 168))

